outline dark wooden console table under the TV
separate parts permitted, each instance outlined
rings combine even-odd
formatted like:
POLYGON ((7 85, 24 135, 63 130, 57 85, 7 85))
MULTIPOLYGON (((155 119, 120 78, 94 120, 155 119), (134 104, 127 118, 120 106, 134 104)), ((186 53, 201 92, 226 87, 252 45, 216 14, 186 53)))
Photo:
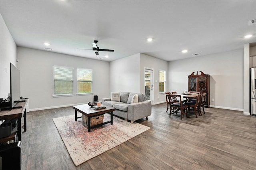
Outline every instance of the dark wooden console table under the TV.
POLYGON ((5 110, 5 111, 0 111, 0 121, 1 120, 6 120, 6 119, 18 119, 17 123, 17 132, 12 133, 10 136, 7 136, 5 138, 0 138, 0 143, 2 142, 7 142, 9 140, 14 140, 16 135, 18 137, 18 141, 21 141, 21 134, 22 134, 22 123, 21 119, 24 117, 24 132, 27 131, 27 121, 26 121, 26 106, 28 104, 28 100, 18 102, 15 106, 21 106, 21 108, 16 108, 12 110, 5 110))

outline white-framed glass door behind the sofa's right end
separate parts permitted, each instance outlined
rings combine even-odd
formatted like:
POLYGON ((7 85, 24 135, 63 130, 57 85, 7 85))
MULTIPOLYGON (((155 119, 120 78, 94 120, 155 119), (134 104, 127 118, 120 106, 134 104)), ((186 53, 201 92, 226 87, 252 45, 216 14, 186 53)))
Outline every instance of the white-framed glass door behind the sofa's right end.
POLYGON ((146 96, 146 101, 152 101, 152 91, 153 91, 153 84, 152 84, 152 75, 153 70, 145 69, 144 70, 144 87, 145 91, 144 94, 146 96))

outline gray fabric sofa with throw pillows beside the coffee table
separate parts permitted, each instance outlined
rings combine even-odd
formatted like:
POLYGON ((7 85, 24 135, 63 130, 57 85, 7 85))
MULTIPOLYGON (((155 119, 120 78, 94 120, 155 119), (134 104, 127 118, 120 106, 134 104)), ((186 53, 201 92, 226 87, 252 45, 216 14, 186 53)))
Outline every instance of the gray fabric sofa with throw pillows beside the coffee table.
MULTIPOLYGON (((118 98, 118 97, 116 97, 118 98)), ((111 98, 102 99, 102 104, 116 108, 113 115, 124 118, 131 123, 138 119, 142 119, 151 115, 151 102, 146 101, 146 97, 142 93, 120 92, 120 101, 111 101, 111 98), (134 95, 138 95, 138 103, 132 103, 134 95)), ((112 98, 114 100, 114 98, 112 98)))

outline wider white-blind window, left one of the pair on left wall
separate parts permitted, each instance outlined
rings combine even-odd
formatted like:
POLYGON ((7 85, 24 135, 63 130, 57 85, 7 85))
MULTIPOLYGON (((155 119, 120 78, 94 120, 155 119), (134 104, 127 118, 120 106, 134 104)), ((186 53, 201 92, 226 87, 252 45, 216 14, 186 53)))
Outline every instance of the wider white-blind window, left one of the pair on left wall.
POLYGON ((73 94, 73 68, 53 66, 54 69, 54 95, 73 94))

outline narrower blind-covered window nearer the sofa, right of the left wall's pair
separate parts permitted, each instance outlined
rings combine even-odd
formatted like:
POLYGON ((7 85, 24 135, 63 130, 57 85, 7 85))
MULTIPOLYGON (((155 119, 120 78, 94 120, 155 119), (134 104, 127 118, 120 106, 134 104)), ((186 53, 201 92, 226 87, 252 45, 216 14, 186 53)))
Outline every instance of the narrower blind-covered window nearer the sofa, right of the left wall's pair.
POLYGON ((77 93, 92 93, 92 70, 77 69, 77 93))

